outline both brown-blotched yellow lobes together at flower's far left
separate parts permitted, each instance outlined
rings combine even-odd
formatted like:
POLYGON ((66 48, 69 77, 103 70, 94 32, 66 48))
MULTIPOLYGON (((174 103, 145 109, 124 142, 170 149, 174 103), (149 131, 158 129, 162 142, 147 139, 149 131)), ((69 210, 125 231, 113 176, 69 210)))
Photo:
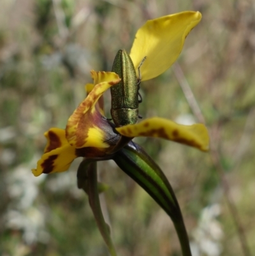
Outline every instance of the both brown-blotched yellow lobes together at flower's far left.
POLYGON ((64 172, 77 158, 75 147, 70 146, 66 140, 65 130, 51 128, 45 132, 45 137, 47 146, 45 153, 37 162, 37 168, 32 170, 34 176, 40 176, 42 173, 64 172))

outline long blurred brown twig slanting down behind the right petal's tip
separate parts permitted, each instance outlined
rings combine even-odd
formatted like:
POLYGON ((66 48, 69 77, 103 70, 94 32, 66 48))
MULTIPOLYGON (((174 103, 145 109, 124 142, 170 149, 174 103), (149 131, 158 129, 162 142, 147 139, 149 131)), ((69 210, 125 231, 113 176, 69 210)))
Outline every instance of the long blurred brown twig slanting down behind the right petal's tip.
MULTIPOLYGON (((203 114, 200 110, 200 107, 199 107, 198 103, 196 102, 194 94, 191 91, 191 87, 189 86, 189 83, 187 82, 187 79, 184 76, 184 73, 182 72, 182 69, 180 68, 179 64, 175 64, 173 66, 173 72, 175 73, 175 77, 177 78, 177 80, 180 84, 180 87, 182 88, 182 91, 184 92, 186 100, 189 103, 189 107, 191 108, 194 116, 196 116, 196 118, 198 119, 198 121, 200 123, 205 123, 205 117, 203 116, 203 114)), ((253 115, 252 115, 252 117, 253 117, 253 115)), ((247 239, 246 239, 245 232, 244 232, 244 227, 241 223, 240 216, 238 215, 237 207, 235 206, 235 203, 233 202, 233 199, 230 195, 230 185, 228 184, 228 180, 226 179, 225 170, 221 164, 219 152, 217 150, 217 147, 215 147, 215 144, 213 141, 211 141, 210 156, 212 158, 212 164, 214 165, 215 170, 217 170, 217 173, 221 179, 224 196, 226 198, 228 208, 230 210, 230 213, 233 217, 233 221, 237 228, 237 232, 238 232, 238 236, 239 236, 239 240, 240 240, 240 243, 242 246, 242 251, 244 253, 244 256, 251 256, 251 252, 249 250, 249 246, 248 246, 247 239)))

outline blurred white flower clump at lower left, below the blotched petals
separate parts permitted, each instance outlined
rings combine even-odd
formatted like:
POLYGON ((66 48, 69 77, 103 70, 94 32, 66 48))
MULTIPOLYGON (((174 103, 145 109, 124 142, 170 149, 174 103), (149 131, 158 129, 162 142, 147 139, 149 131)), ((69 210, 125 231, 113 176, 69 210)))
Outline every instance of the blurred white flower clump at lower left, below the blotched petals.
POLYGON ((44 179, 44 175, 39 179, 34 177, 31 167, 25 165, 18 166, 7 177, 8 193, 12 200, 4 216, 5 225, 8 229, 22 230, 23 239, 29 245, 36 241, 47 243, 50 239, 45 231, 43 211, 34 207, 38 185, 44 179))

